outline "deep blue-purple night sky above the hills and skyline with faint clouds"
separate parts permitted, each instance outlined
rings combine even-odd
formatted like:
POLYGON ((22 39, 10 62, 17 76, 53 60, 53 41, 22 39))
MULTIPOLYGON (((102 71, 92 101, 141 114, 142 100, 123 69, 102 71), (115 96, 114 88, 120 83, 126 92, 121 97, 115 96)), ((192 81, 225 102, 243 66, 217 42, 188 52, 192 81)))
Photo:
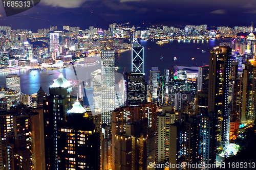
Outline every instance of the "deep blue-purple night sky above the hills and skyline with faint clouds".
MULTIPOLYGON (((32 9, 10 17, 31 14, 94 12, 109 22, 162 23, 167 26, 256 26, 254 0, 41 0, 32 9)), ((3 5, 0 19, 7 20, 3 5)), ((1 25, 0 20, 0 25, 1 25)))

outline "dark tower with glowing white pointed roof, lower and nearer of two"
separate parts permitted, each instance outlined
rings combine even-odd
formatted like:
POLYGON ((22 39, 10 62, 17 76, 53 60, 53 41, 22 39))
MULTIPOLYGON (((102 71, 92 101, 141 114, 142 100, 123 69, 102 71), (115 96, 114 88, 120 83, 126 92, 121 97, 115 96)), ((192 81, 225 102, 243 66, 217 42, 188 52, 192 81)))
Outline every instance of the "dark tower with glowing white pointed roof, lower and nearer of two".
POLYGON ((57 128, 57 169, 100 169, 100 134, 93 120, 77 100, 57 128))

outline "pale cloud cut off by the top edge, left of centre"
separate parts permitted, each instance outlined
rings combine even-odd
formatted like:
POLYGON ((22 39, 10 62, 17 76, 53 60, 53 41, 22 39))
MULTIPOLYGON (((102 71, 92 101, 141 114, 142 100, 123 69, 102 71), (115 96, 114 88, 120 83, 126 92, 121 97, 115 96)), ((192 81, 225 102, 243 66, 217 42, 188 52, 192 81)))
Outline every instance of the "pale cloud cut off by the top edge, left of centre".
POLYGON ((52 7, 78 8, 88 0, 42 0, 41 3, 52 7))

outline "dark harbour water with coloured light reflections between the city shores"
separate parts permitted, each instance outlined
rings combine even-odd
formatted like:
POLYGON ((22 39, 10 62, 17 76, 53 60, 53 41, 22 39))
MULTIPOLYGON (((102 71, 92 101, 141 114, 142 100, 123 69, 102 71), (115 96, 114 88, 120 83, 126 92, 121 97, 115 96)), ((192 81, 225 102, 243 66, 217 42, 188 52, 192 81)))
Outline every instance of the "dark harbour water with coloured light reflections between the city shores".
MULTIPOLYGON (((212 47, 219 46, 221 42, 230 42, 231 39, 216 39, 216 40, 200 40, 200 41, 178 41, 172 40, 164 44, 156 44, 151 40, 139 40, 138 42, 144 46, 144 72, 146 80, 152 67, 158 67, 160 71, 167 68, 172 68, 173 65, 182 66, 202 66, 204 63, 209 63, 209 52, 212 47), (202 50, 205 53, 202 53, 202 50), (177 60, 174 60, 174 57, 177 60), (192 58, 194 58, 192 60, 192 58)), ((117 70, 122 74, 125 71, 131 71, 131 53, 132 51, 125 51, 116 54, 117 70)), ((100 61, 99 54, 94 56, 100 61)), ((90 78, 90 71, 100 68, 100 64, 92 66, 78 66, 75 67, 77 72, 82 72, 84 80, 90 78)), ((74 69, 63 68, 62 74, 68 80, 76 80, 74 69)), ((8 74, 17 74, 20 76, 21 90, 25 94, 36 93, 40 86, 49 93, 49 87, 54 79, 58 78, 60 69, 55 70, 13 70, 9 72, 0 73, 0 87, 6 87, 6 76, 8 74)))

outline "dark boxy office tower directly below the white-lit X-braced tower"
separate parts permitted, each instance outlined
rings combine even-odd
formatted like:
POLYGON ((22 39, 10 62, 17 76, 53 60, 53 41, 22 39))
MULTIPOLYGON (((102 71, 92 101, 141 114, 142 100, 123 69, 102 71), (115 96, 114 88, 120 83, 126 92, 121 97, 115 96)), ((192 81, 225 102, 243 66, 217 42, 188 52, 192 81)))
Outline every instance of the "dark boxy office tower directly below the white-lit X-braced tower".
POLYGON ((126 106, 138 106, 146 102, 145 74, 140 72, 125 72, 126 106))

